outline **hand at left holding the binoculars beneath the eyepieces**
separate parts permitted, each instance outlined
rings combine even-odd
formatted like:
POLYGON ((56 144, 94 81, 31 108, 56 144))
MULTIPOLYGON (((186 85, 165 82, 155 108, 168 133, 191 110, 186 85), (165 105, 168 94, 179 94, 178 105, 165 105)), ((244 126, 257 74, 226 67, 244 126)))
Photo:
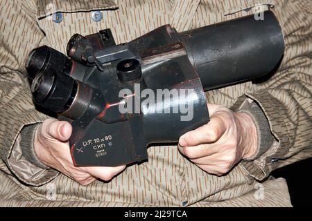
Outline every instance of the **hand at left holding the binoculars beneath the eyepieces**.
POLYGON ((71 131, 69 122, 60 122, 57 119, 46 119, 37 128, 34 148, 37 157, 43 164, 64 173, 83 185, 94 182, 96 178, 105 181, 111 180, 114 175, 125 169, 125 166, 73 166, 67 142, 71 131))

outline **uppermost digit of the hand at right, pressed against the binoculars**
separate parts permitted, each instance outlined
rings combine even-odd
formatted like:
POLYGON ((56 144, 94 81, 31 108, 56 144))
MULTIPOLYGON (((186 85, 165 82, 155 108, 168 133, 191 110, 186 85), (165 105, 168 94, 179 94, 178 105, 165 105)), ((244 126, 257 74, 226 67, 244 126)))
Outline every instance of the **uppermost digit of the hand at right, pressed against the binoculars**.
POLYGON ((212 116, 208 124, 182 135, 179 144, 180 146, 197 146, 199 144, 214 143, 219 140, 225 131, 226 126, 223 120, 218 115, 212 116))

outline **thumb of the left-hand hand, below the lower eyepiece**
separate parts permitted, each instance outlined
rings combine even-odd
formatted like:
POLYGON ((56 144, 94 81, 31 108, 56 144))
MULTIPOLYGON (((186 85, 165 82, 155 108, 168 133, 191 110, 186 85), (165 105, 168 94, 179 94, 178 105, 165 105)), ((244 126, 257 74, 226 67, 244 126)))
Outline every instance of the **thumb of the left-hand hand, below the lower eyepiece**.
POLYGON ((58 121, 57 119, 46 119, 42 124, 42 130, 46 138, 65 142, 71 137, 72 127, 69 122, 58 121))

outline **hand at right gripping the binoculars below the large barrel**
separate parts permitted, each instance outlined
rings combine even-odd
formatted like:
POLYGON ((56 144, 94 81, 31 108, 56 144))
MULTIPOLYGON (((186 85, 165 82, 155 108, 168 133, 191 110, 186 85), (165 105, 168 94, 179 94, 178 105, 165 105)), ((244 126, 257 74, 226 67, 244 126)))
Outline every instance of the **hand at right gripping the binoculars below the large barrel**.
POLYGON ((182 135, 180 152, 207 173, 223 175, 257 152, 257 128, 247 113, 208 104, 210 122, 182 135))

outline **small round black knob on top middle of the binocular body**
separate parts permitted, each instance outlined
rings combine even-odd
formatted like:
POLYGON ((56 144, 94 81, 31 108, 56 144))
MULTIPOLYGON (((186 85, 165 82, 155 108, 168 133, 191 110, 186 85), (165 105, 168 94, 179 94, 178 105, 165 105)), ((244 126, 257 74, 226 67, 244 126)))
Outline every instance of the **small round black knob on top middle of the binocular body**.
POLYGON ((126 59, 117 65, 117 75, 121 82, 134 82, 142 77, 141 65, 136 59, 126 59))

